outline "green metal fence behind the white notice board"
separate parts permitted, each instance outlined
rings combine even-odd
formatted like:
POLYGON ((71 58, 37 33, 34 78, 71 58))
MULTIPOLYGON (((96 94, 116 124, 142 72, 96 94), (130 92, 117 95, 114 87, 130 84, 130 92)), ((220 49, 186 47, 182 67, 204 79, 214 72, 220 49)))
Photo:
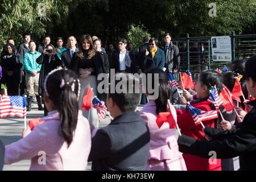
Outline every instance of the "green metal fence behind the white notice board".
MULTIPOLYGON (((256 53, 256 34, 253 35, 236 35, 232 32, 230 35, 232 46, 232 61, 235 59, 248 59, 256 53)), ((212 42, 210 36, 189 37, 172 39, 172 42, 180 50, 180 68, 184 72, 189 69, 193 75, 207 69, 222 69, 228 67, 230 62, 220 62, 212 60, 212 42), (204 53, 201 47, 204 47, 204 53)))

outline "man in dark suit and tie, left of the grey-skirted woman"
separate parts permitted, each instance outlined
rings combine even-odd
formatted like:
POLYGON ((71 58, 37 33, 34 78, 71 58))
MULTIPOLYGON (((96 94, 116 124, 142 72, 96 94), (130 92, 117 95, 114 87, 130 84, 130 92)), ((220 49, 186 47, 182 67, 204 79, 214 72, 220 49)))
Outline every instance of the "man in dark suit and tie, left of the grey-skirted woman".
POLYGON ((75 55, 74 53, 79 51, 79 49, 76 48, 76 43, 77 41, 75 36, 68 37, 69 48, 61 54, 61 67, 69 68, 72 57, 75 55))

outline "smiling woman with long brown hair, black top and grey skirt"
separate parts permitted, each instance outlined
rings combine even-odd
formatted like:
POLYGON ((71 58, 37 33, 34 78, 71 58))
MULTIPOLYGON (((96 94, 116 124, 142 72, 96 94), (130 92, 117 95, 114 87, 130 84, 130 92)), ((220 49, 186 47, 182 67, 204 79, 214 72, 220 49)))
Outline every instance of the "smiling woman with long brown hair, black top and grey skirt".
MULTIPOLYGON (((79 107, 82 107, 82 100, 88 88, 93 89, 94 96, 97 96, 97 77, 104 73, 104 66, 101 61, 100 54, 96 52, 90 35, 82 35, 79 42, 79 51, 73 55, 69 69, 77 73, 81 84, 81 92, 79 98, 79 107)), ((90 122, 94 127, 98 127, 97 110, 94 107, 89 112, 82 110, 86 118, 90 118, 90 122)))

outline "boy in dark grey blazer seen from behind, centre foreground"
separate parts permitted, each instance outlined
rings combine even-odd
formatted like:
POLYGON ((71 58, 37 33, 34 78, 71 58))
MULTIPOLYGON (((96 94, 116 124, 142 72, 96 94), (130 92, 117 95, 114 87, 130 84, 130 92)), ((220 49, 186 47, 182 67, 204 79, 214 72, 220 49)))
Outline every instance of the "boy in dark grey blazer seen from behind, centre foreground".
MULTIPOLYGON (((136 88, 135 84, 139 85, 139 79, 126 73, 117 73, 117 77, 122 77, 122 90, 125 89, 127 93, 118 94, 114 90, 114 93, 108 94, 106 102, 114 119, 92 138, 88 161, 92 161, 92 170, 145 170, 150 133, 139 112, 135 111, 139 103, 139 90, 128 92, 129 86, 136 88)), ((115 88, 118 83, 118 79, 112 80, 115 88)))

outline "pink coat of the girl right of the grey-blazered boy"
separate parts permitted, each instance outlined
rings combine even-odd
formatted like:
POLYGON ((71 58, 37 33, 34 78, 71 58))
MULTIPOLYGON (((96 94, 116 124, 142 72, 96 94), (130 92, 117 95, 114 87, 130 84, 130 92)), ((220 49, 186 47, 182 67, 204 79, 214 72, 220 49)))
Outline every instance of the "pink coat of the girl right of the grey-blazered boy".
MULTIPOLYGON (((182 153, 179 152, 179 146, 175 138, 176 129, 170 129, 168 123, 162 127, 156 125, 156 105, 155 101, 149 101, 141 110, 141 117, 147 123, 150 130, 150 151, 148 160, 180 160, 179 166, 172 166, 175 170, 186 170, 182 153)), ((174 115, 176 120, 176 113, 174 115)), ((173 164, 176 165, 177 163, 173 164)))

